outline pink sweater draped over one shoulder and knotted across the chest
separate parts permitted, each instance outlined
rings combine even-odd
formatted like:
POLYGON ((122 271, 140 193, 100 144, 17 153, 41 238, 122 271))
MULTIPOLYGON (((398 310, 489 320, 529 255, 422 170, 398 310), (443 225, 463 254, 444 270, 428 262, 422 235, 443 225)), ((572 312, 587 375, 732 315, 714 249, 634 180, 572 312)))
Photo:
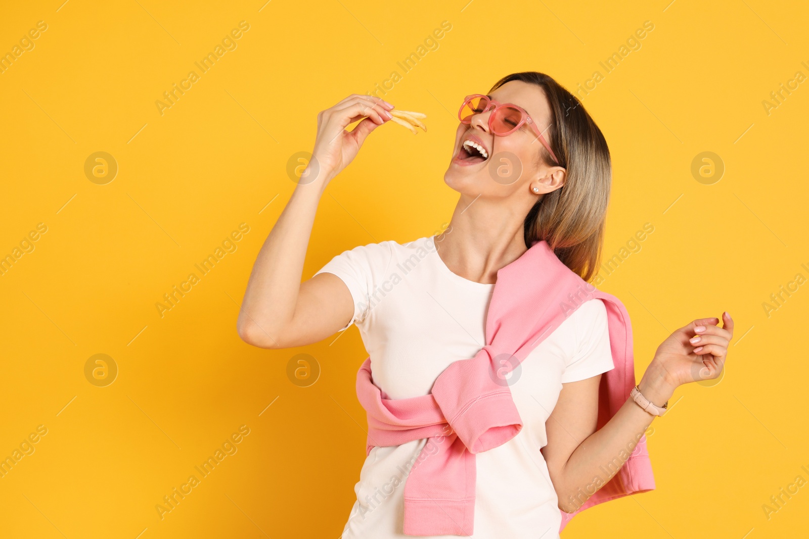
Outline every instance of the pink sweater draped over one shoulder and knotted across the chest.
MULTIPOLYGON (((597 428, 623 406, 635 385, 632 327, 616 297, 599 291, 566 267, 544 240, 498 271, 486 315, 486 344, 471 359, 450 364, 431 394, 388 399, 374 385, 371 358, 357 373, 357 395, 368 419, 366 453, 375 446, 427 438, 404 484, 404 534, 460 535, 473 532, 475 455, 505 444, 523 422, 511 398, 506 374, 525 359, 584 301, 598 298, 607 308, 615 368, 599 386, 597 428)), ((559 531, 587 507, 654 489, 646 436, 599 491, 576 512, 561 512, 559 531)))

